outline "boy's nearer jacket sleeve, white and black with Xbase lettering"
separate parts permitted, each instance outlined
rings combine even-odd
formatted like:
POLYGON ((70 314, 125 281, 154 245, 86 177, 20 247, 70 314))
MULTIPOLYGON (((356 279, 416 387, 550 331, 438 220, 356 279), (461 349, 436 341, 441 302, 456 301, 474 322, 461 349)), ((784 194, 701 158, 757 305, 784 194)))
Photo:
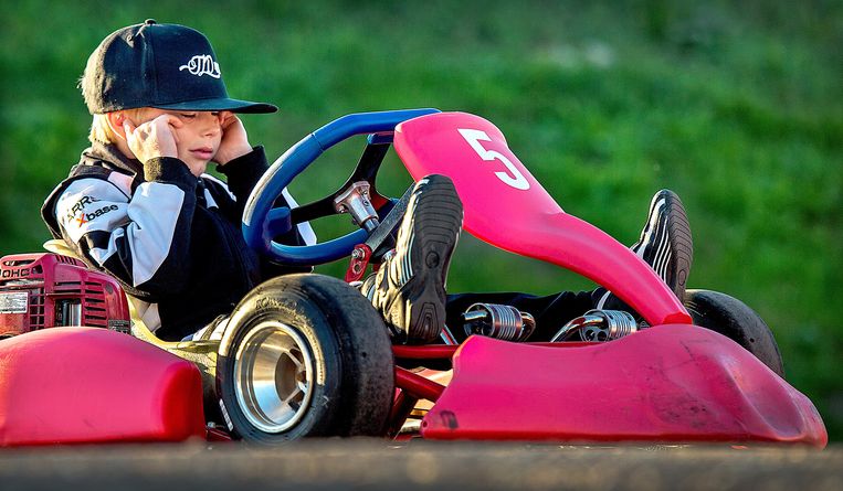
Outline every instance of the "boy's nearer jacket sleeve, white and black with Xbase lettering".
POLYGON ((147 182, 134 193, 117 173, 71 183, 55 214, 65 242, 92 266, 156 299, 180 291, 188 277, 197 179, 175 158, 144 168, 147 182))

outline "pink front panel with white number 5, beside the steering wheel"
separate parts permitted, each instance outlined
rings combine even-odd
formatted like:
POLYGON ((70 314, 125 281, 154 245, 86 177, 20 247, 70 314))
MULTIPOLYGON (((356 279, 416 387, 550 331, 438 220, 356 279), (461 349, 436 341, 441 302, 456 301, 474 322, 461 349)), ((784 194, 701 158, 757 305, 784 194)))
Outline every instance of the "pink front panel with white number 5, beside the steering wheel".
POLYGON ((646 263, 601 230, 565 213, 489 121, 465 113, 422 116, 396 128, 394 145, 415 180, 439 173, 454 181, 465 210, 463 226, 472 235, 597 281, 652 325, 691 323, 646 263))

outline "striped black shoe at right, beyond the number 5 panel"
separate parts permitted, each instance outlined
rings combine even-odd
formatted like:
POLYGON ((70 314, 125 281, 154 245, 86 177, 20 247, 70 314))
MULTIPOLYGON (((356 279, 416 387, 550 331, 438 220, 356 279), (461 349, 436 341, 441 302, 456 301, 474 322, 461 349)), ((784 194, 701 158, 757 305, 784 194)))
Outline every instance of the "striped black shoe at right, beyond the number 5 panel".
MULTIPOLYGON (((641 237, 630 248, 653 268, 682 301, 694 260, 694 245, 685 207, 676 193, 671 190, 655 193, 641 237)), ((625 310, 637 317, 626 303, 605 288, 596 289, 591 298, 597 309, 625 310)))

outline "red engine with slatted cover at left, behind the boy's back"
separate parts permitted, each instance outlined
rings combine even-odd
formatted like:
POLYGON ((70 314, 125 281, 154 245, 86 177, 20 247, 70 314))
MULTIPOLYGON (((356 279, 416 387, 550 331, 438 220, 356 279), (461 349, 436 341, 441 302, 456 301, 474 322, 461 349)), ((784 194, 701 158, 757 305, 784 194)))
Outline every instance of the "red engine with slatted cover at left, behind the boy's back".
POLYGON ((61 325, 130 331, 120 285, 59 254, 0 258, 0 338, 61 325))

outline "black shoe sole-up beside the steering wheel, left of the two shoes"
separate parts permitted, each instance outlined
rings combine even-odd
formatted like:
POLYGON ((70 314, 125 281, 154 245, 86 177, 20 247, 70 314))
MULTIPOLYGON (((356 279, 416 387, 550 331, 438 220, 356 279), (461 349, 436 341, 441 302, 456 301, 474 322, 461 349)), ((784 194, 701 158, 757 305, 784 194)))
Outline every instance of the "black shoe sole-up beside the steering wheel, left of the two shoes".
POLYGON ((420 180, 412 191, 396 253, 360 287, 393 338, 435 340, 445 323, 445 280, 463 223, 463 204, 444 175, 420 180))

